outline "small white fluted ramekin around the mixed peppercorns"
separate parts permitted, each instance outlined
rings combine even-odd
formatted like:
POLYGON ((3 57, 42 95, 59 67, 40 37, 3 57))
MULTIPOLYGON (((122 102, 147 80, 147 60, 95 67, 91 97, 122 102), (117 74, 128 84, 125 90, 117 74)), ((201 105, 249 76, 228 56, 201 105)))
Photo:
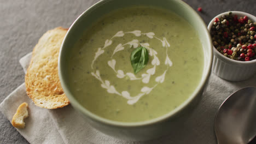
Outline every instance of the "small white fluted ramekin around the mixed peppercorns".
MULTIPOLYGON (((219 19, 222 15, 228 15, 230 11, 217 15, 219 19)), ((232 15, 237 15, 238 17, 247 16, 248 19, 251 19, 253 22, 256 22, 256 17, 244 13, 242 11, 231 11, 232 15)), ((211 30, 213 26, 213 22, 215 20, 214 17, 208 25, 208 30, 211 30)), ((214 74, 219 76, 222 79, 229 81, 242 81, 249 79, 249 77, 253 76, 256 73, 256 59, 253 61, 236 61, 225 57, 220 53, 214 46, 213 48, 213 64, 212 71, 214 74)))

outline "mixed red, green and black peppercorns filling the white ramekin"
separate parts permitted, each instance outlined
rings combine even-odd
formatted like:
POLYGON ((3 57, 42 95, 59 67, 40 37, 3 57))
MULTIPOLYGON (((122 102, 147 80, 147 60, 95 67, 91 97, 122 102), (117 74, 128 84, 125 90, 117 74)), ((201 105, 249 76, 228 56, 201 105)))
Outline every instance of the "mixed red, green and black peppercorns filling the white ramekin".
POLYGON ((256 59, 255 30, 256 22, 230 12, 214 20, 210 33, 214 47, 222 55, 237 61, 252 61, 256 59))

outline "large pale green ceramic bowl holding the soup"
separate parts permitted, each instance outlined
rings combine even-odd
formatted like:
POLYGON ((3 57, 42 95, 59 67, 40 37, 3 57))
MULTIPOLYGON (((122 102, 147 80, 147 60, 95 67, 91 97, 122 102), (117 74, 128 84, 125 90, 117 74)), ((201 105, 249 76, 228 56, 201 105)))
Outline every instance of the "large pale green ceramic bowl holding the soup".
MULTIPOLYGON (((183 122, 190 115, 197 102, 201 99, 203 88, 211 73, 212 65, 212 42, 207 27, 201 17, 189 7, 188 4, 178 0, 103 0, 89 9, 85 10, 72 26, 69 28, 65 39, 63 40, 59 55, 59 77, 61 86, 66 93, 71 105, 75 110, 82 113, 84 121, 87 121, 95 129, 104 134, 117 137, 123 140, 149 140, 156 137, 167 135, 168 132, 183 128, 183 122), (87 110, 72 94, 71 88, 68 87, 67 63, 69 61, 72 47, 75 42, 82 37, 83 32, 94 21, 114 9, 129 7, 132 5, 148 5, 162 9, 167 9, 183 17, 195 29, 203 47, 203 72, 201 80, 194 92, 176 109, 168 112, 166 115, 142 122, 117 122, 110 119, 102 118, 87 110)), ((189 44, 188 44, 189 48, 189 44)), ((181 54, 182 55, 182 54, 181 54)))

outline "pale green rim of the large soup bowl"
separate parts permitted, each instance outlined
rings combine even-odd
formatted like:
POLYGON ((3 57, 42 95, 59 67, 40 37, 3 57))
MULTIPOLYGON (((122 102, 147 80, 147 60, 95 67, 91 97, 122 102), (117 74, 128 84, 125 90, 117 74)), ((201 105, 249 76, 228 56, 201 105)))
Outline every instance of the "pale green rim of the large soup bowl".
MULTIPOLYGON (((89 7, 81 15, 79 15, 78 18, 72 23, 71 27, 69 27, 68 32, 67 32, 67 34, 65 35, 65 38, 62 41, 61 48, 60 48, 60 53, 59 53, 59 59, 58 59, 58 69, 59 69, 59 77, 60 77, 61 86, 62 86, 64 92, 66 93, 68 99, 70 100, 71 105, 73 107, 75 107, 75 109, 78 109, 80 112, 82 112, 85 117, 93 119, 93 121, 100 122, 102 124, 111 125, 111 126, 114 126, 114 127, 122 127, 122 128, 135 128, 135 127, 144 127, 144 126, 147 126, 147 125, 152 125, 152 124, 167 121, 167 119, 170 119, 170 118, 176 116, 179 112, 181 112, 183 109, 185 109, 185 107, 187 107, 196 98, 196 96, 198 94, 200 94, 200 92, 202 92, 202 90, 203 90, 204 86, 206 85, 206 82, 208 81, 208 79, 210 77, 210 74, 211 74, 211 67, 212 67, 212 61, 213 61, 213 52, 212 52, 211 48, 210 48, 210 51, 208 52, 208 54, 210 56, 209 57, 210 59, 209 59, 208 63, 205 63, 205 66, 204 66, 205 70, 203 70, 203 71, 205 71, 205 72, 202 73, 201 81, 199 82, 199 84, 195 88, 195 91, 192 94, 190 94, 190 97, 188 99, 186 99, 185 101, 183 101, 183 103, 181 105, 177 106, 176 109, 166 113, 165 115, 162 115, 162 116, 159 116, 159 117, 156 117, 156 118, 153 118, 153 119, 149 119, 149 120, 146 120, 146 121, 119 122, 119 121, 113 121, 113 120, 110 120, 110 119, 107 119, 107 118, 100 117, 100 116, 90 112, 89 110, 87 110, 82 105, 80 105, 79 102, 71 94, 71 91, 69 91, 69 89, 67 88, 66 82, 63 78, 64 77, 63 76, 63 71, 61 70, 62 67, 63 67, 62 65, 65 65, 65 64, 62 64, 61 61, 62 61, 62 59, 64 59, 64 57, 62 55, 63 55, 63 49, 64 49, 63 47, 65 47, 65 45, 66 45, 66 39, 69 37, 68 35, 69 35, 69 33, 71 33, 72 28, 75 27, 75 23, 77 23, 78 20, 81 19, 81 17, 83 17, 83 15, 85 15, 88 11, 97 7, 98 5, 104 4, 104 3, 109 2, 109 1, 114 1, 114 0, 101 0, 101 1, 91 5, 91 7, 89 7)), ((193 16, 195 16, 196 19, 199 20, 199 21, 197 21, 197 23, 200 23, 200 25, 202 25, 201 26, 202 29, 203 29, 202 33, 204 35, 206 35, 206 39, 207 39, 206 40, 207 41, 206 45, 207 45, 207 47, 211 47, 212 46, 211 36, 210 36, 210 33, 207 30, 205 22, 201 18, 201 16, 199 16, 199 14, 197 14, 196 11, 193 8, 191 8, 185 2, 183 2, 181 0, 173 0, 173 2, 177 3, 179 5, 182 5, 184 8, 189 9, 189 11, 191 11, 193 16)))

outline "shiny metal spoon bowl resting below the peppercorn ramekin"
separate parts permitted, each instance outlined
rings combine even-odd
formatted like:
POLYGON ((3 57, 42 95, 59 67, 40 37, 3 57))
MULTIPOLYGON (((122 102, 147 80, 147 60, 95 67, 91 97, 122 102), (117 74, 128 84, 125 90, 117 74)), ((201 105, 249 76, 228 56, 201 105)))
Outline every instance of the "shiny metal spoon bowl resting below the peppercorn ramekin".
POLYGON ((218 144, 246 144, 256 135, 256 88, 231 94, 219 107, 214 122, 218 144))

